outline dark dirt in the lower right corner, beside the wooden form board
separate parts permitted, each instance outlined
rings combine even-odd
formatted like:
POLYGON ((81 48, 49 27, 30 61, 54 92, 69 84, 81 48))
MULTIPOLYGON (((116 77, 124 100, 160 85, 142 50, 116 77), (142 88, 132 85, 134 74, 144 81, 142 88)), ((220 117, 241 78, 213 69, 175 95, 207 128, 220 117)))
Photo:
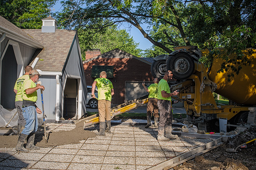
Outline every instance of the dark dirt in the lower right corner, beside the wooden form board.
POLYGON ((174 167, 174 170, 256 170, 256 144, 251 142, 246 148, 238 148, 237 153, 226 152, 240 144, 256 138, 256 128, 245 130, 228 139, 220 147, 174 167))

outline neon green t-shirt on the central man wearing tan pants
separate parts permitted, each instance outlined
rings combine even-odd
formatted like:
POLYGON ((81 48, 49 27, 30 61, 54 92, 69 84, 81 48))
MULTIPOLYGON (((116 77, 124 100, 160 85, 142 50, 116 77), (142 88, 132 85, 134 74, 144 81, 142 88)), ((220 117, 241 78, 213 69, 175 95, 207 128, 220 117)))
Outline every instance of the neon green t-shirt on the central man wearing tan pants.
POLYGON ((96 86, 98 88, 98 100, 108 100, 111 101, 111 89, 113 89, 112 82, 109 79, 106 78, 97 78, 94 81, 96 81, 96 86))

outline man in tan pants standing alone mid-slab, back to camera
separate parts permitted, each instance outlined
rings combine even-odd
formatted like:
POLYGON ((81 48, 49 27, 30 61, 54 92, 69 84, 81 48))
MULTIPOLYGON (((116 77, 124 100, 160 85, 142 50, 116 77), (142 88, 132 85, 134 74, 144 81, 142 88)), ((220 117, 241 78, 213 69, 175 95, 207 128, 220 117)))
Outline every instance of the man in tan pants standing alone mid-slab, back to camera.
POLYGON ((92 97, 95 98, 95 88, 98 88, 98 110, 99 110, 99 135, 105 136, 106 122, 107 121, 107 133, 111 133, 111 99, 114 95, 114 89, 112 82, 107 79, 107 73, 102 71, 100 78, 94 80, 92 85, 92 97))

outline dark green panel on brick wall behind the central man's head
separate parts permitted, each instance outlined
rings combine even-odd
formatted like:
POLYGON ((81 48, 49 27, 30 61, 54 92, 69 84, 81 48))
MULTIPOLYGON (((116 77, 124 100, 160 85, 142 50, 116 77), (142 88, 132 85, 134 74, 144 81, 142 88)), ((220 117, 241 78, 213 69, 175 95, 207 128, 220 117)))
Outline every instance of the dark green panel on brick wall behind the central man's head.
POLYGON ((106 71, 107 78, 113 78, 113 70, 114 70, 114 66, 111 66, 111 65, 93 65, 91 77, 98 78, 100 75, 100 72, 106 71))

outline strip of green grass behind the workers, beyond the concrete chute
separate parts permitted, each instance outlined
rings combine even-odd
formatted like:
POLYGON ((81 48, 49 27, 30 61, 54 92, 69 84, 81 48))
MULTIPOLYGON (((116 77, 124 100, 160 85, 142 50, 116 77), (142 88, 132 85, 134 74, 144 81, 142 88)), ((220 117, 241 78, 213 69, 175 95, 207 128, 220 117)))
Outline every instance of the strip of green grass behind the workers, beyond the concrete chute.
MULTIPOLYGON (((98 112, 87 112, 87 116, 92 116, 98 112)), ((186 118, 186 114, 174 114, 173 118, 186 118)), ((120 120, 120 119, 147 119, 147 113, 122 113, 115 117, 113 120, 120 120)))

